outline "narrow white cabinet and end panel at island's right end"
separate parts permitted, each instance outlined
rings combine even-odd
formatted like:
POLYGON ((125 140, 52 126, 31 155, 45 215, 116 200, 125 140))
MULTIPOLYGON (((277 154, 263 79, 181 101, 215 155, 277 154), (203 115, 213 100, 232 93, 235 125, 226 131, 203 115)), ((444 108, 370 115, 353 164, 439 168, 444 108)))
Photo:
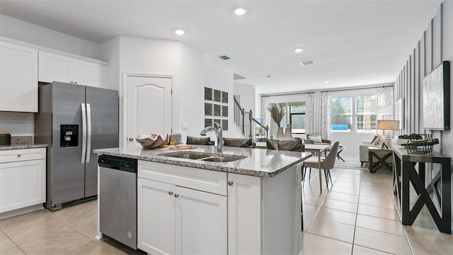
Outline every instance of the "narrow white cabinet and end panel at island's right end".
POLYGON ((228 174, 228 254, 302 254, 301 171, 228 174))

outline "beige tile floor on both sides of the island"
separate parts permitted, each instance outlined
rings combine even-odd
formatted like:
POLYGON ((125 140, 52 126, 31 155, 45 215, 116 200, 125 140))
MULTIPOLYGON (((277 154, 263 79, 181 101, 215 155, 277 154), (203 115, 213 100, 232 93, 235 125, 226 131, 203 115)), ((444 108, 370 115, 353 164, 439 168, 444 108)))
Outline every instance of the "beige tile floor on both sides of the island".
MULTIPOLYGON (((390 171, 336 168, 322 193, 317 172, 303 188, 304 254, 453 254, 453 235, 439 232, 426 208, 413 226, 401 225, 390 171)), ((96 210, 92 200, 0 220, 0 254, 141 254, 96 240, 96 210)))

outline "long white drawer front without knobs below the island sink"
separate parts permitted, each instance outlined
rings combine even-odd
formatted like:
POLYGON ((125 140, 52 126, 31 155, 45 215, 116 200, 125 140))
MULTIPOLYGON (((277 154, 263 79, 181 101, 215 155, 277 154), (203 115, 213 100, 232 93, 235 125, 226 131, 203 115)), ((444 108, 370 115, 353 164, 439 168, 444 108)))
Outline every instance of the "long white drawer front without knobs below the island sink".
POLYGON ((226 172, 139 160, 138 177, 226 196, 226 172))

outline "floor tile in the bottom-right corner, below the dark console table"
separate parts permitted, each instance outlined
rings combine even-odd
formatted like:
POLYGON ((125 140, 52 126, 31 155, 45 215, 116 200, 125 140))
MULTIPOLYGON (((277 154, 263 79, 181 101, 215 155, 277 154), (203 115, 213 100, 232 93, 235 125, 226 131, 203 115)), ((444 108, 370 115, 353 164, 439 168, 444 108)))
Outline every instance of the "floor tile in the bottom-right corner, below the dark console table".
POLYGON ((453 254, 453 234, 437 227, 404 226, 414 254, 453 254))

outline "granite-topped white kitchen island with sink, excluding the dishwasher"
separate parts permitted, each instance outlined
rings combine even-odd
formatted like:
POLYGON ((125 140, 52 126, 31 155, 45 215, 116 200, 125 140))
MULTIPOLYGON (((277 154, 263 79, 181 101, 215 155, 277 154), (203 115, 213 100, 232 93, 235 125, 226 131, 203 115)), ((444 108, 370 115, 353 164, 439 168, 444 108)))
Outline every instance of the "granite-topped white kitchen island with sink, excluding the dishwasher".
POLYGON ((300 188, 302 163, 310 153, 224 147, 219 154, 203 145, 94 152, 137 159, 138 249, 149 254, 302 254, 300 188))

